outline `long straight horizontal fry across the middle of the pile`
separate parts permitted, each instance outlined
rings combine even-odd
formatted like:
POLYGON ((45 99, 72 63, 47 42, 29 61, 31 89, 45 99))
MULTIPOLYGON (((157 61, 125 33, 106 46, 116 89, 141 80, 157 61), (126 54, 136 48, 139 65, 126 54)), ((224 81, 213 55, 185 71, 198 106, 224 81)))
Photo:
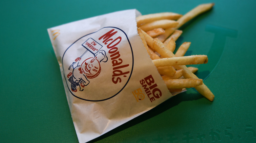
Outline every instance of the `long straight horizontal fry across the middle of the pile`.
POLYGON ((206 64, 208 57, 206 55, 180 56, 171 58, 161 58, 152 60, 156 67, 174 66, 174 65, 197 65, 206 64))

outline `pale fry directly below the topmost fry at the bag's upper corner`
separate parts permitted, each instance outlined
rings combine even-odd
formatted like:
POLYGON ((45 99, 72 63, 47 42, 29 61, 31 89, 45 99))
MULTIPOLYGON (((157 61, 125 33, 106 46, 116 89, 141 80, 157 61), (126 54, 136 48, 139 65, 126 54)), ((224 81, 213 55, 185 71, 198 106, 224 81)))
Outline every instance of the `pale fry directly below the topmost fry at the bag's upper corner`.
POLYGON ((159 20, 159 21, 154 21, 151 23, 143 24, 139 27, 143 31, 149 31, 149 30, 153 30, 155 28, 166 29, 166 28, 176 27, 176 26, 178 26, 178 24, 179 23, 177 21, 164 19, 164 20, 159 20))

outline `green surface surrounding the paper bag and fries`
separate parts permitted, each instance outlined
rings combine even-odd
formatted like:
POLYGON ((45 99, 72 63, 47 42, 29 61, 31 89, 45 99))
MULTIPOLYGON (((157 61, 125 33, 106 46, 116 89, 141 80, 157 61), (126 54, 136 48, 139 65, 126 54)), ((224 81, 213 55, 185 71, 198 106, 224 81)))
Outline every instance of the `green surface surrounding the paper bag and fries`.
POLYGON ((1 1, 0 142, 78 142, 47 28, 118 10, 185 14, 186 55, 208 55, 196 73, 215 95, 193 88, 90 142, 256 142, 256 1, 1 1))

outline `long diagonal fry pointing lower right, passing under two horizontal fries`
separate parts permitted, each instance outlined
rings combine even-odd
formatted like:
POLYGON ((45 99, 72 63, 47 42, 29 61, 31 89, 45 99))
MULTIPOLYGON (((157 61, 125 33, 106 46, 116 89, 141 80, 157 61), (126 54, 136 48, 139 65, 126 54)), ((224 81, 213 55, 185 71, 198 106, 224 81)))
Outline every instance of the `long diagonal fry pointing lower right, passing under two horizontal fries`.
MULTIPOLYGON (((175 57, 175 55, 168 50, 165 45, 157 38, 155 38, 152 42, 153 44, 153 49, 156 50, 161 56, 163 57, 175 57)), ((194 73, 192 73, 185 65, 180 66, 174 66, 174 68, 176 68, 177 70, 182 69, 183 70, 183 76, 185 78, 198 78, 194 73)), ((213 101, 214 99, 214 95, 213 93, 210 91, 210 89, 206 86, 206 85, 201 85, 198 87, 195 87, 195 89, 202 94, 205 98, 207 98, 210 101, 213 101)))

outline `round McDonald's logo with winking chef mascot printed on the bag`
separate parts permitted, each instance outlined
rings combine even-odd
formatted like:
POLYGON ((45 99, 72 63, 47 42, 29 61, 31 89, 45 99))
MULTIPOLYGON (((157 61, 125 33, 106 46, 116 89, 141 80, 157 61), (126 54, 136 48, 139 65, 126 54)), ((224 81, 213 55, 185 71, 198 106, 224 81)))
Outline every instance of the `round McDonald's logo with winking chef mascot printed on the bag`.
POLYGON ((104 101, 127 85, 134 58, 126 33, 117 27, 104 27, 70 45, 62 63, 72 95, 86 101, 104 101))

